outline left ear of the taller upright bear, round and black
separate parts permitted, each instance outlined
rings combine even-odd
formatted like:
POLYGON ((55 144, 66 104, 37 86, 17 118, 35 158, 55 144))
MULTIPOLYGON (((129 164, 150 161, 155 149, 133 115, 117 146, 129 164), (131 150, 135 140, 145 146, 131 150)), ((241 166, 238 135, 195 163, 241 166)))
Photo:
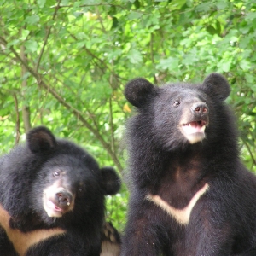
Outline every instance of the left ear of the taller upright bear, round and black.
POLYGON ((125 97, 135 107, 143 107, 148 96, 154 94, 154 85, 143 78, 132 79, 125 85, 125 97))

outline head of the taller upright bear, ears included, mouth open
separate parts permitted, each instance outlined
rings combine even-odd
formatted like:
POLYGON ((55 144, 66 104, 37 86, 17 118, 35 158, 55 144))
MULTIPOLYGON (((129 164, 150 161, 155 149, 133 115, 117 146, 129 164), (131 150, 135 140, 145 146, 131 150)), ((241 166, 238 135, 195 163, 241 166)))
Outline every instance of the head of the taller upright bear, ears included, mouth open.
POLYGON ((161 87, 146 79, 133 79, 125 86, 125 97, 137 107, 138 115, 131 119, 129 132, 131 137, 147 134, 160 148, 200 143, 214 137, 214 132, 207 131, 216 132, 217 123, 224 121, 221 108, 225 108, 223 102, 229 95, 230 84, 218 73, 210 74, 202 84, 161 87))

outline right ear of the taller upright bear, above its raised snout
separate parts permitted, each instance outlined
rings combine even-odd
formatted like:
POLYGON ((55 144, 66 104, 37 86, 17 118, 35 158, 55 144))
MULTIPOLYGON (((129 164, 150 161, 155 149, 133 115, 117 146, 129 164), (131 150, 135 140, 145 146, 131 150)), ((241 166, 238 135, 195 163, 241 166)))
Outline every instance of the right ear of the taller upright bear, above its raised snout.
POLYGON ((230 84, 227 79, 219 73, 211 73, 202 84, 202 89, 208 96, 217 97, 224 101, 230 95, 230 84))

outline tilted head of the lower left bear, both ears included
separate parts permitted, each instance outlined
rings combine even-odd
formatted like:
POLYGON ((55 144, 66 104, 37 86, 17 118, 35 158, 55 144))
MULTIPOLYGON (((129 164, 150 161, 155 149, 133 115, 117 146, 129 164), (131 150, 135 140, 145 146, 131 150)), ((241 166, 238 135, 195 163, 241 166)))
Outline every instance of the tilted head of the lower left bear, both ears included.
POLYGON ((71 222, 91 216, 103 218, 104 195, 116 194, 120 188, 112 167, 100 168, 83 148, 56 139, 44 126, 29 131, 26 145, 8 156, 9 170, 4 178, 10 187, 3 207, 17 223, 26 216, 45 224, 58 218, 71 222), (12 158, 16 158, 13 165, 12 158))

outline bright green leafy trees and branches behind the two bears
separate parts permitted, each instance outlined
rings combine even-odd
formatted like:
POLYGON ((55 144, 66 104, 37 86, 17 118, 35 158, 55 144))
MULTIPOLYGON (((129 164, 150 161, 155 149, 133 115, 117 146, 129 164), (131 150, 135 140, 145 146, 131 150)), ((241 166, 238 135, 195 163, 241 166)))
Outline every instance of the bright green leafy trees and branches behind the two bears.
MULTIPOLYGON (((125 177, 125 83, 196 83, 218 72, 255 172, 255 37, 249 0, 0 0, 0 151, 47 125, 125 177)), ((128 196, 124 185, 108 197, 119 230, 128 196)))

